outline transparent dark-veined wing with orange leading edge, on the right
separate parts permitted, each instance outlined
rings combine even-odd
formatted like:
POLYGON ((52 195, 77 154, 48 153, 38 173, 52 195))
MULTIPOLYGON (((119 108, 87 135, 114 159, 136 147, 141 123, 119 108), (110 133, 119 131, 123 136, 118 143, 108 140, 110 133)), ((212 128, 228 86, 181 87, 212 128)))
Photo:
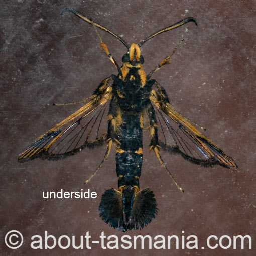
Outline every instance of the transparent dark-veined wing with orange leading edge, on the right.
POLYGON ((155 90, 150 96, 158 121, 158 136, 161 150, 180 154, 195 164, 221 166, 237 170, 235 161, 215 143, 196 129, 196 124, 178 113, 173 106, 155 90))

